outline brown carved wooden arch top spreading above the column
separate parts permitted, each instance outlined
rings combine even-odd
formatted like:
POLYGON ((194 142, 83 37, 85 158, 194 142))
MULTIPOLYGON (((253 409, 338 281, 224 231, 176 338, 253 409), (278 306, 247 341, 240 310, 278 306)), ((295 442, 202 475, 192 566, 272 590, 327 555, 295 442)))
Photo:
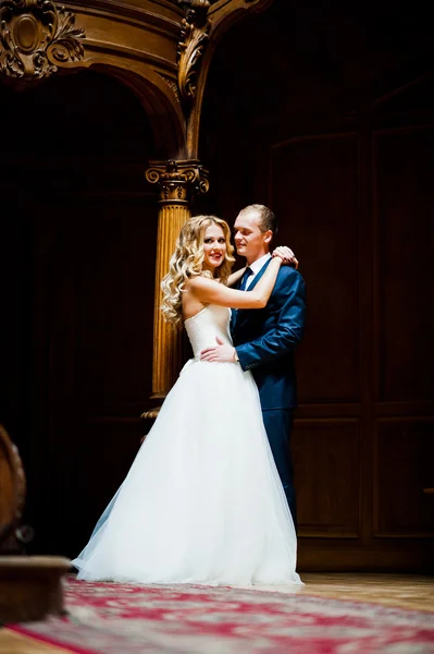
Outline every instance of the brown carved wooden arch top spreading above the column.
POLYGON ((61 8, 53 0, 3 0, 0 74, 24 86, 61 68, 107 70, 133 88, 154 118, 162 156, 183 153, 196 159, 215 46, 238 17, 272 1, 79 0, 61 8))

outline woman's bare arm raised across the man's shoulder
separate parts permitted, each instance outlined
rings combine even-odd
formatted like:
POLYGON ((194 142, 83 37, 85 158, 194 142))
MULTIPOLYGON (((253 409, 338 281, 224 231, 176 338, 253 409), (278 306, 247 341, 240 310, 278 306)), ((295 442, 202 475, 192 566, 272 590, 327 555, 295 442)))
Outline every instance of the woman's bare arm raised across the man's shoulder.
POLYGON ((218 304, 231 308, 263 308, 270 299, 281 265, 280 257, 272 258, 251 291, 228 289, 207 277, 195 277, 187 288, 202 304, 218 304))

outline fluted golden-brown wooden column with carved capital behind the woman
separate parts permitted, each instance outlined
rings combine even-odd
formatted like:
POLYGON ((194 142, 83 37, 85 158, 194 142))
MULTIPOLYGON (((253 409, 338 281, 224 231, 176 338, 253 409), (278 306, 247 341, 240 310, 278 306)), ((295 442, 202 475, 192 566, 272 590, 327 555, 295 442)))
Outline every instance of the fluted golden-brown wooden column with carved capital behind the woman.
MULTIPOLYGON (((151 162, 146 179, 160 186, 158 218, 156 300, 153 315, 152 398, 163 400, 173 386, 181 368, 181 330, 165 323, 161 311, 161 280, 169 270, 176 239, 184 222, 190 217, 190 202, 195 193, 208 191, 208 172, 197 160, 151 162)), ((142 417, 156 417, 157 410, 142 417)))

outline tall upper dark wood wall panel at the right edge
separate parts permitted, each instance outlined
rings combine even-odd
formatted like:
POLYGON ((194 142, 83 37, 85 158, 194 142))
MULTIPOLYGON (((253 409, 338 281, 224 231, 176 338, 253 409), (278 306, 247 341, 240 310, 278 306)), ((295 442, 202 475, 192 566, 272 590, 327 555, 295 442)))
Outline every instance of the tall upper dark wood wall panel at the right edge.
POLYGON ((434 126, 373 140, 379 399, 434 397, 434 126))

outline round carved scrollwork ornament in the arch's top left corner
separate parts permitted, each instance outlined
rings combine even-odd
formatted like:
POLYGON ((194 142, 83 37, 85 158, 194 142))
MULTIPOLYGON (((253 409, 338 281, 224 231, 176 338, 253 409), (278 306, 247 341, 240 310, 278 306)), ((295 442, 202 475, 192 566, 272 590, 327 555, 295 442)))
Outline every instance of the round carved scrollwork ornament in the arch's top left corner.
POLYGON ((0 9, 0 71, 37 82, 84 57, 75 15, 51 0, 5 0, 0 9))

